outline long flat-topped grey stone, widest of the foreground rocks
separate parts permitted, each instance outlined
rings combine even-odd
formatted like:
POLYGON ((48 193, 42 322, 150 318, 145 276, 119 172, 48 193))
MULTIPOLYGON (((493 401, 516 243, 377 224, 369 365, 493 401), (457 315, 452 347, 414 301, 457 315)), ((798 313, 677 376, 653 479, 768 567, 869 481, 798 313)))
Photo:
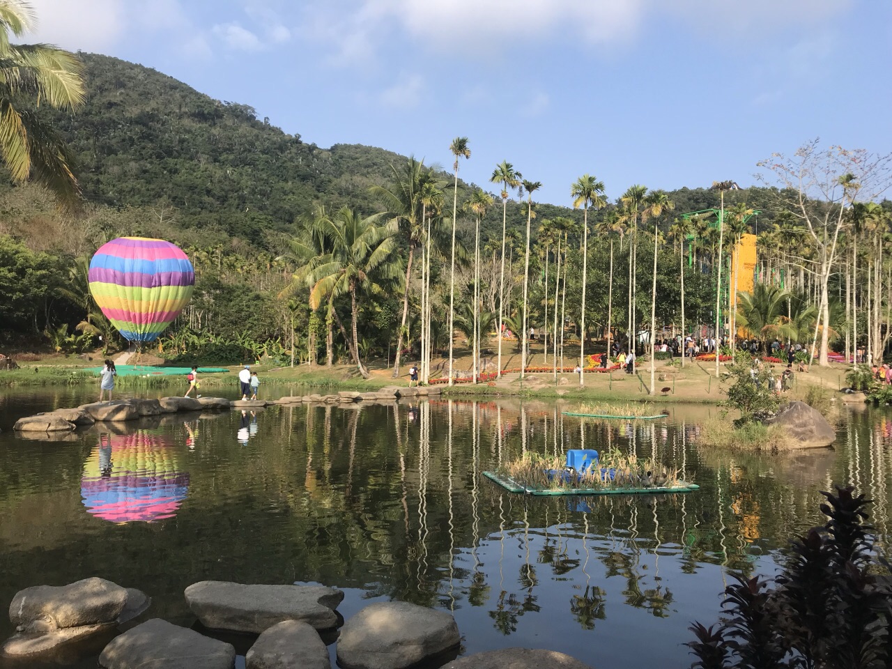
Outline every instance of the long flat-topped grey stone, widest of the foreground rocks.
POLYGON ((335 608, 342 600, 342 591, 323 585, 202 581, 186 588, 189 608, 205 627, 254 634, 285 620, 330 629, 338 623, 335 608))

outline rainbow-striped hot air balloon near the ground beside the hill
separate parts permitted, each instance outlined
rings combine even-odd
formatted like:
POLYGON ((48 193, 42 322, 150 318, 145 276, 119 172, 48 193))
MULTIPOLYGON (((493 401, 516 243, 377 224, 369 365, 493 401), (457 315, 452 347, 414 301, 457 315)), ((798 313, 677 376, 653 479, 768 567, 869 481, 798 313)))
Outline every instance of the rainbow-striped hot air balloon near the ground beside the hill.
POLYGON ((195 273, 178 246, 119 237, 90 260, 90 293, 111 325, 131 342, 153 342, 192 297, 195 273))

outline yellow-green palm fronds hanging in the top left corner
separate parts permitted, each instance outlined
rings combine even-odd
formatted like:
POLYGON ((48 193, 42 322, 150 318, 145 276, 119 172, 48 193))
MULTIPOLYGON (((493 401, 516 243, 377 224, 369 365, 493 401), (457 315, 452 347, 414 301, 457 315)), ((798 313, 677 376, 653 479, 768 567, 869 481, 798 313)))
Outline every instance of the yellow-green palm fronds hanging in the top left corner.
POLYGON ((27 2, 0 3, 0 153, 12 181, 29 178, 55 194, 60 203, 78 202, 78 180, 62 136, 31 106, 48 104, 76 111, 87 97, 84 64, 74 54, 49 45, 14 45, 14 37, 34 29, 27 2))

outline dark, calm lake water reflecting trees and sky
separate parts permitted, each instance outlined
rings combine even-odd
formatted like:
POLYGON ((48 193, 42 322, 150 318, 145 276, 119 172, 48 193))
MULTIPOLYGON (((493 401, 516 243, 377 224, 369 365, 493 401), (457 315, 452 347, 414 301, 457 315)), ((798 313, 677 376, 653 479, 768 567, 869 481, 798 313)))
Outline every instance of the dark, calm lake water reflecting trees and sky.
MULTIPOLYGON (((847 409, 833 450, 795 458, 698 448, 714 408, 606 424, 519 400, 174 415, 62 442, 12 434, 17 417, 92 395, 0 396, 3 607, 21 588, 97 575, 153 598, 139 620, 191 626, 190 583, 318 582, 346 592, 344 617, 388 599, 451 611, 463 655, 526 646, 597 667, 685 667, 687 628, 714 622, 727 574, 774 574, 791 534, 822 524, 820 490, 867 492, 888 537, 886 411, 847 409), (523 450, 608 446, 683 467, 700 490, 526 498, 481 475, 523 450)), ((11 633, 4 615, 0 636, 11 633)), ((252 643, 227 640, 243 655, 252 643)), ((54 663, 95 667, 89 652, 54 663)))

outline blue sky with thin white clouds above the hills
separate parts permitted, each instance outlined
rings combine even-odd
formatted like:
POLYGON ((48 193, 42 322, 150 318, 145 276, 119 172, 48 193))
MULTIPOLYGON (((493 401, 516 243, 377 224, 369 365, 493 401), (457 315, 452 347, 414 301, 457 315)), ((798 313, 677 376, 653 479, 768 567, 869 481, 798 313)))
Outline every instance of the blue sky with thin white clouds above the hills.
POLYGON ((250 104, 319 146, 356 143, 485 185, 501 160, 569 204, 753 183, 823 145, 892 151, 888 0, 32 0, 27 41, 110 54, 250 104))

